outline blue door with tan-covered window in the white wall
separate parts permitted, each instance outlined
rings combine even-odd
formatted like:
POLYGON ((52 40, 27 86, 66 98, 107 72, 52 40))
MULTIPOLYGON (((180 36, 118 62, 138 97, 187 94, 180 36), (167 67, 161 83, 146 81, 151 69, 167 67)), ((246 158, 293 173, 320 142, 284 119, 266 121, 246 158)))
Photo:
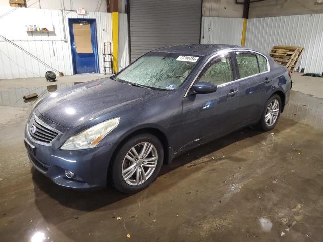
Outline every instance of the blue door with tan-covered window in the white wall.
POLYGON ((99 72, 95 19, 69 18, 73 74, 99 72))

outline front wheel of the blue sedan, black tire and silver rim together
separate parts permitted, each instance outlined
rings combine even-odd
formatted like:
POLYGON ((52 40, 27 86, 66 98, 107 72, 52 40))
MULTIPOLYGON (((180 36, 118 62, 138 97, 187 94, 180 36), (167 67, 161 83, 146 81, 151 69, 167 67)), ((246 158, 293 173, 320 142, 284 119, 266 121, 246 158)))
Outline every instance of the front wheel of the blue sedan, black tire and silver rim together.
POLYGON ((113 186, 123 193, 136 193, 156 179, 163 165, 163 145, 151 134, 132 137, 119 149, 110 172, 113 186))

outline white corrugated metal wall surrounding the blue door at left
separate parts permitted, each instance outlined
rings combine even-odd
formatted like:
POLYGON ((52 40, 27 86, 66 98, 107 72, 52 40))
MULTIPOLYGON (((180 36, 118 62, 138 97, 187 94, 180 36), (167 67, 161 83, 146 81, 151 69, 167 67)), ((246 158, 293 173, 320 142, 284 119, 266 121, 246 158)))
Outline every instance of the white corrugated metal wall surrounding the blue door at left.
MULTIPOLYGON (((1 7, 0 15, 12 10, 1 7)), ((64 42, 62 14, 60 10, 20 8, 0 19, 1 34, 15 44, 36 55, 64 75, 73 75, 68 18, 96 19, 100 73, 103 73, 103 42, 112 42, 111 14, 89 12, 85 16, 63 11, 66 37, 64 42), (27 33, 28 24, 52 23, 55 33, 27 33), (105 29, 105 31, 103 31, 105 29)), ((50 70, 12 44, 0 39, 0 79, 39 77, 50 70)))

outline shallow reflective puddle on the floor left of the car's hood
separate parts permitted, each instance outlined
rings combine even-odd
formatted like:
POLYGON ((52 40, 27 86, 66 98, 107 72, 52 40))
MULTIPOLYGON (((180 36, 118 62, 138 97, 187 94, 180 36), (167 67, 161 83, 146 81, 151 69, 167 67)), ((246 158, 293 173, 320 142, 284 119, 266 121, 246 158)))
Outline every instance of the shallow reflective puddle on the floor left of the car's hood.
POLYGON ((0 91, 0 106, 11 106, 11 107, 28 107, 32 106, 39 98, 45 97, 51 92, 55 92, 62 88, 70 87, 82 82, 74 83, 58 83, 51 84, 44 87, 16 87, 10 88, 8 90, 0 91), (37 93, 38 97, 33 97, 30 99, 23 99, 23 96, 26 96, 31 93, 37 93))

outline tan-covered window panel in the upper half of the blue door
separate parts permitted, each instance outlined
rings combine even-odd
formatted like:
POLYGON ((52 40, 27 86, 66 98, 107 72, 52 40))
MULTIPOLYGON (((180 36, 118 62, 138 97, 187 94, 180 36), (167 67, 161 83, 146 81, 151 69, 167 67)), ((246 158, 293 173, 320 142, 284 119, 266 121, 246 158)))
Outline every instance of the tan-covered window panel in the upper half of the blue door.
POLYGON ((91 27, 89 24, 73 24, 76 53, 93 53, 91 27))

